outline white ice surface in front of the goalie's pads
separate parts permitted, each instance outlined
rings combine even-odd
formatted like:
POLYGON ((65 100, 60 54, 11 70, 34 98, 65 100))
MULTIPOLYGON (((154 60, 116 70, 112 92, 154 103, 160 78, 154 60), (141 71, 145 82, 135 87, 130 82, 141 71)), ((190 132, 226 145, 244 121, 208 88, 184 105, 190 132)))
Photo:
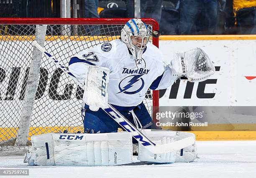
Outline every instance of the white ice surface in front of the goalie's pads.
POLYGON ((256 141, 199 141, 197 149, 193 163, 145 164, 133 157, 136 163, 122 166, 27 166, 16 156, 0 157, 0 169, 28 168, 31 178, 256 178, 256 141))

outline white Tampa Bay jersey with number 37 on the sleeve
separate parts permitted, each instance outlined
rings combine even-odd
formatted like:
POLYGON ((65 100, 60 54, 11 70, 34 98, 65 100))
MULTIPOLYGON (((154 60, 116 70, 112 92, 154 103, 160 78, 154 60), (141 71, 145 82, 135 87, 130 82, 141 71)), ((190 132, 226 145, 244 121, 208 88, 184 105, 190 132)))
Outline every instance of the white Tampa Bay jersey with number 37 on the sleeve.
POLYGON ((176 77, 172 66, 163 62, 159 48, 148 43, 142 60, 136 61, 125 43, 113 40, 73 56, 69 71, 79 79, 85 79, 86 66, 96 65, 110 69, 108 102, 120 107, 141 104, 147 90, 166 89, 176 77))

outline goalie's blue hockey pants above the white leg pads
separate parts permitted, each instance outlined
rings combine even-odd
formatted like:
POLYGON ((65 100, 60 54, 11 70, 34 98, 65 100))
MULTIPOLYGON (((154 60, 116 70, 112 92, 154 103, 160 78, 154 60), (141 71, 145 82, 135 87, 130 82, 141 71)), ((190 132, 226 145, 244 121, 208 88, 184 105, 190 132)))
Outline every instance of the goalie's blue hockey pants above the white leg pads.
MULTIPOLYGON (((148 110, 143 103, 139 104, 133 109, 134 113, 138 117, 143 129, 151 129, 154 125, 148 110)), ((126 119, 128 119, 133 125, 133 116, 129 111, 119 111, 126 119)), ((91 111, 90 109, 85 109, 82 112, 84 119, 84 132, 85 133, 109 133, 117 132, 118 128, 122 128, 115 120, 113 120, 108 114, 105 113, 101 108, 98 111, 91 111)), ((122 128, 123 129, 123 128, 122 128)), ((123 129, 124 130, 124 129, 123 129)))

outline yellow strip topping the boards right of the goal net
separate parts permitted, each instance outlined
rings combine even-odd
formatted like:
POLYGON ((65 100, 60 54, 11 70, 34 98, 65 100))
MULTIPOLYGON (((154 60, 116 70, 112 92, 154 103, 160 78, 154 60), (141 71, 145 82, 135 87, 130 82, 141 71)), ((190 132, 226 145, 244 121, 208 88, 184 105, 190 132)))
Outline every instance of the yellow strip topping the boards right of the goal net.
POLYGON ((256 35, 161 35, 159 40, 256 40, 256 35))

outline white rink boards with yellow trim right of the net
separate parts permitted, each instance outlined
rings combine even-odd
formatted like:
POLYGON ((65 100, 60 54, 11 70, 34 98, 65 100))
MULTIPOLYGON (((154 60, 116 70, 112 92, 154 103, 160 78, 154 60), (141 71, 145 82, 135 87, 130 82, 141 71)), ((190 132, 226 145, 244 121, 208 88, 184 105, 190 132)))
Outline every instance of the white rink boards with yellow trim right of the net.
MULTIPOLYGON (((168 106, 172 112, 182 109, 204 112, 203 119, 192 121, 207 122, 208 126, 191 127, 200 140, 256 139, 256 35, 160 36, 159 39, 167 64, 173 52, 199 47, 208 54, 216 70, 206 81, 194 84, 177 81, 161 90, 160 111, 168 106), (225 130, 232 132, 222 132, 225 130), (246 130, 251 132, 243 132, 246 130)), ((165 127, 168 128, 172 127, 165 127)))

